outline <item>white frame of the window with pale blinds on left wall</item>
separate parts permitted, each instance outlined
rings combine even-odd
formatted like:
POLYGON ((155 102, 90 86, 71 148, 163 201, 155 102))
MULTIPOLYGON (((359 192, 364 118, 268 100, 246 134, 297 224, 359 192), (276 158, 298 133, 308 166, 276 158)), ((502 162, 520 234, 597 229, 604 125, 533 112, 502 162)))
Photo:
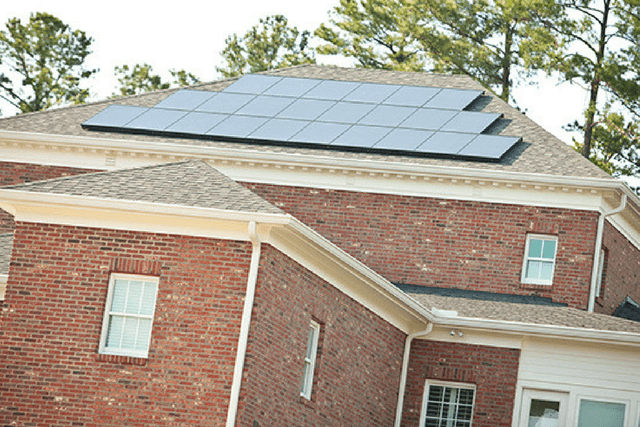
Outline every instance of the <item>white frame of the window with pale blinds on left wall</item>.
POLYGON ((109 335, 109 320, 111 316, 117 315, 111 311, 116 280, 132 280, 132 281, 144 281, 144 282, 155 283, 156 295, 153 301, 153 310, 151 315, 130 315, 131 317, 136 317, 136 318, 151 319, 150 328, 151 328, 151 331, 153 331, 153 319, 155 316, 156 302, 158 299, 158 288, 159 288, 160 278, 156 276, 143 276, 138 274, 112 273, 111 276, 109 277, 109 291, 107 293, 107 302, 105 304, 104 317, 102 319, 102 332, 100 334, 100 348, 98 352, 100 354, 109 354, 109 355, 116 355, 116 356, 131 356, 131 357, 140 357, 140 358, 146 359, 149 356, 149 344, 151 343, 152 332, 149 333, 149 339, 146 343, 146 349, 144 351, 107 347, 107 336, 109 335))

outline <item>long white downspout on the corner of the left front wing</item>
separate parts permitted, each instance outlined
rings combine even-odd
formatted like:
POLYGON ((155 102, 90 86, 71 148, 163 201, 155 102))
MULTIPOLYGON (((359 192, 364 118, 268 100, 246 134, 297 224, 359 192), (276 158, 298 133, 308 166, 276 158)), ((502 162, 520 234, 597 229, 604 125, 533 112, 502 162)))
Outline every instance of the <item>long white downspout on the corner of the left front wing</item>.
POLYGON ((240 336, 238 337, 238 353, 236 364, 233 368, 233 381, 231 382, 231 395, 229 397, 229 411, 227 412, 227 427, 233 427, 238 413, 238 399, 240 398, 240 386, 242 385, 242 371, 244 370, 244 358, 247 353, 247 341, 249 340, 249 325, 251 323, 251 311, 253 299, 256 294, 256 281, 258 279, 258 265, 260 263, 260 239, 258 238, 255 221, 249 223, 249 239, 253 245, 251 252, 251 265, 249 266, 249 279, 247 280, 247 294, 242 310, 242 322, 240 323, 240 336))

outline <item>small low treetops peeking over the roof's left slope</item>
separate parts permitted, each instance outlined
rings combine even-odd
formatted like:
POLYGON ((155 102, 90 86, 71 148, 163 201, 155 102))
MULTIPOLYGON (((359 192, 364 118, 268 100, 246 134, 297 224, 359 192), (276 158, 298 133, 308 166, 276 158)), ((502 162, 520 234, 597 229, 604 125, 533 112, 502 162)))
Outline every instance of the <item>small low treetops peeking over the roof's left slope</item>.
POLYGON ((114 96, 137 95, 154 90, 169 89, 171 86, 189 86, 199 83, 196 76, 185 70, 171 70, 173 82, 164 82, 158 74, 153 74, 149 64, 123 65, 115 68, 120 83, 119 93, 114 96))

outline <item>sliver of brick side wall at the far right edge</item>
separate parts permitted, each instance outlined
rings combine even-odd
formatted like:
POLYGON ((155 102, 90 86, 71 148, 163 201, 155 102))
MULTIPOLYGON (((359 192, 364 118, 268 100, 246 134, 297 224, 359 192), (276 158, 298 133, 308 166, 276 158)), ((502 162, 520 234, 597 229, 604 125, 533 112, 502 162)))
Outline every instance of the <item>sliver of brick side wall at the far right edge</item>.
POLYGON ((608 221, 602 246, 606 251, 604 280, 595 311, 611 314, 627 295, 640 303, 640 250, 608 221))

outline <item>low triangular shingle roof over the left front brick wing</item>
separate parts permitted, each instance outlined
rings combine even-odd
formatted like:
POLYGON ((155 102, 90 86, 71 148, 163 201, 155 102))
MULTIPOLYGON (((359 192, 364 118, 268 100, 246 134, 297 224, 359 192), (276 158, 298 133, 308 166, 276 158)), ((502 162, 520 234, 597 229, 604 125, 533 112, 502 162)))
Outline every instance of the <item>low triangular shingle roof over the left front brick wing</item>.
POLYGON ((3 189, 252 213, 283 213, 202 160, 76 175, 3 189))

